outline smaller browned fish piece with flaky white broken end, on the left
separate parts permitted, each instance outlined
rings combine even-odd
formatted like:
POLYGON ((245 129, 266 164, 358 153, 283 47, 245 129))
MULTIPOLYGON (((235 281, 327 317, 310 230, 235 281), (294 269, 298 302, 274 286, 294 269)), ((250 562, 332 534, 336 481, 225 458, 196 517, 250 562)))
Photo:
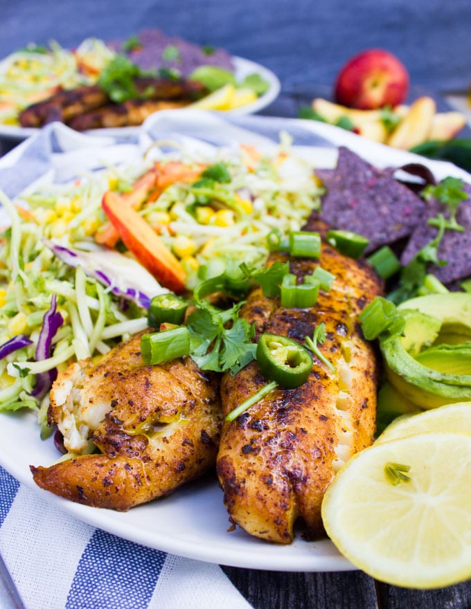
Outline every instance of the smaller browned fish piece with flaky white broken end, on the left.
POLYGON ((219 377, 190 358, 145 365, 141 334, 99 363, 72 364, 51 390, 50 416, 74 453, 31 466, 35 482, 69 500, 127 510, 214 467, 220 435, 219 377))

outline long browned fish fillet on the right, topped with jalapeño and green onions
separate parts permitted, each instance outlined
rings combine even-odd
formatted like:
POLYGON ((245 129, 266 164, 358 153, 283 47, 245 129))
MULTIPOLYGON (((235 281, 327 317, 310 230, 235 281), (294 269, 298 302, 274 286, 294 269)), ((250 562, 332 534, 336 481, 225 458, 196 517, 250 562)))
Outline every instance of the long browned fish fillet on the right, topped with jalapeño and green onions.
MULTIPOLYGON (((314 355, 308 381, 299 388, 278 387, 236 420, 225 421, 217 475, 231 521, 251 535, 290 543, 298 518, 308 536, 323 534, 326 488, 341 465, 373 441, 377 368, 357 315, 381 292, 381 285, 366 263, 327 244, 320 261, 272 255, 271 261, 276 260, 289 260, 298 278, 321 264, 335 274, 335 281, 328 293, 319 293, 312 309, 284 309, 279 299, 266 298, 256 288, 242 316, 256 324, 257 334, 279 334, 299 343, 323 322, 326 340, 320 350, 335 372, 314 355)), ((224 415, 266 383, 256 362, 235 376, 226 374, 221 386, 224 415)))

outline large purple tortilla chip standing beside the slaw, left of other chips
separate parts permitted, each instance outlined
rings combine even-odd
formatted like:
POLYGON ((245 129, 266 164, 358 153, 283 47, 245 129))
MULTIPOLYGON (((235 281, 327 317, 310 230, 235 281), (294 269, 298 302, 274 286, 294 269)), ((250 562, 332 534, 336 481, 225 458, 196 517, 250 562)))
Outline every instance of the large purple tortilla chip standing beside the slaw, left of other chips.
POLYGON ((346 147, 339 147, 337 167, 323 174, 323 184, 321 219, 368 237, 365 253, 408 237, 425 214, 425 201, 390 171, 373 167, 346 147))

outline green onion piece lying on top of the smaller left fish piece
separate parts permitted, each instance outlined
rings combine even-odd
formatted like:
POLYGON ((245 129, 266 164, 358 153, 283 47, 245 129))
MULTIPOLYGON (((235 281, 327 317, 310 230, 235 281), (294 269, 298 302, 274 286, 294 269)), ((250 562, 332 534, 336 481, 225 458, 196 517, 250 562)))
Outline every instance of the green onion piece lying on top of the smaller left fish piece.
POLYGON ((190 332, 186 326, 141 336, 141 354, 147 365, 152 366, 183 357, 189 352, 190 332))

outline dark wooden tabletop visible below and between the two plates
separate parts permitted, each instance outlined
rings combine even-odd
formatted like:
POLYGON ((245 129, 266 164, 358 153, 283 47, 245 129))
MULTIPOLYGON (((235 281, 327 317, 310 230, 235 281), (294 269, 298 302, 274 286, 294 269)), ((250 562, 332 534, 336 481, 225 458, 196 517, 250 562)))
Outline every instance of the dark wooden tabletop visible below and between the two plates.
MULTIPOLYGON (((314 94, 285 93, 263 113, 296 117, 314 94)), ((5 154, 15 144, 0 139, 0 152, 5 154)), ((471 609, 471 580, 438 590, 409 590, 377 582, 360 571, 275 572, 224 565, 222 569, 254 609, 471 609)))

